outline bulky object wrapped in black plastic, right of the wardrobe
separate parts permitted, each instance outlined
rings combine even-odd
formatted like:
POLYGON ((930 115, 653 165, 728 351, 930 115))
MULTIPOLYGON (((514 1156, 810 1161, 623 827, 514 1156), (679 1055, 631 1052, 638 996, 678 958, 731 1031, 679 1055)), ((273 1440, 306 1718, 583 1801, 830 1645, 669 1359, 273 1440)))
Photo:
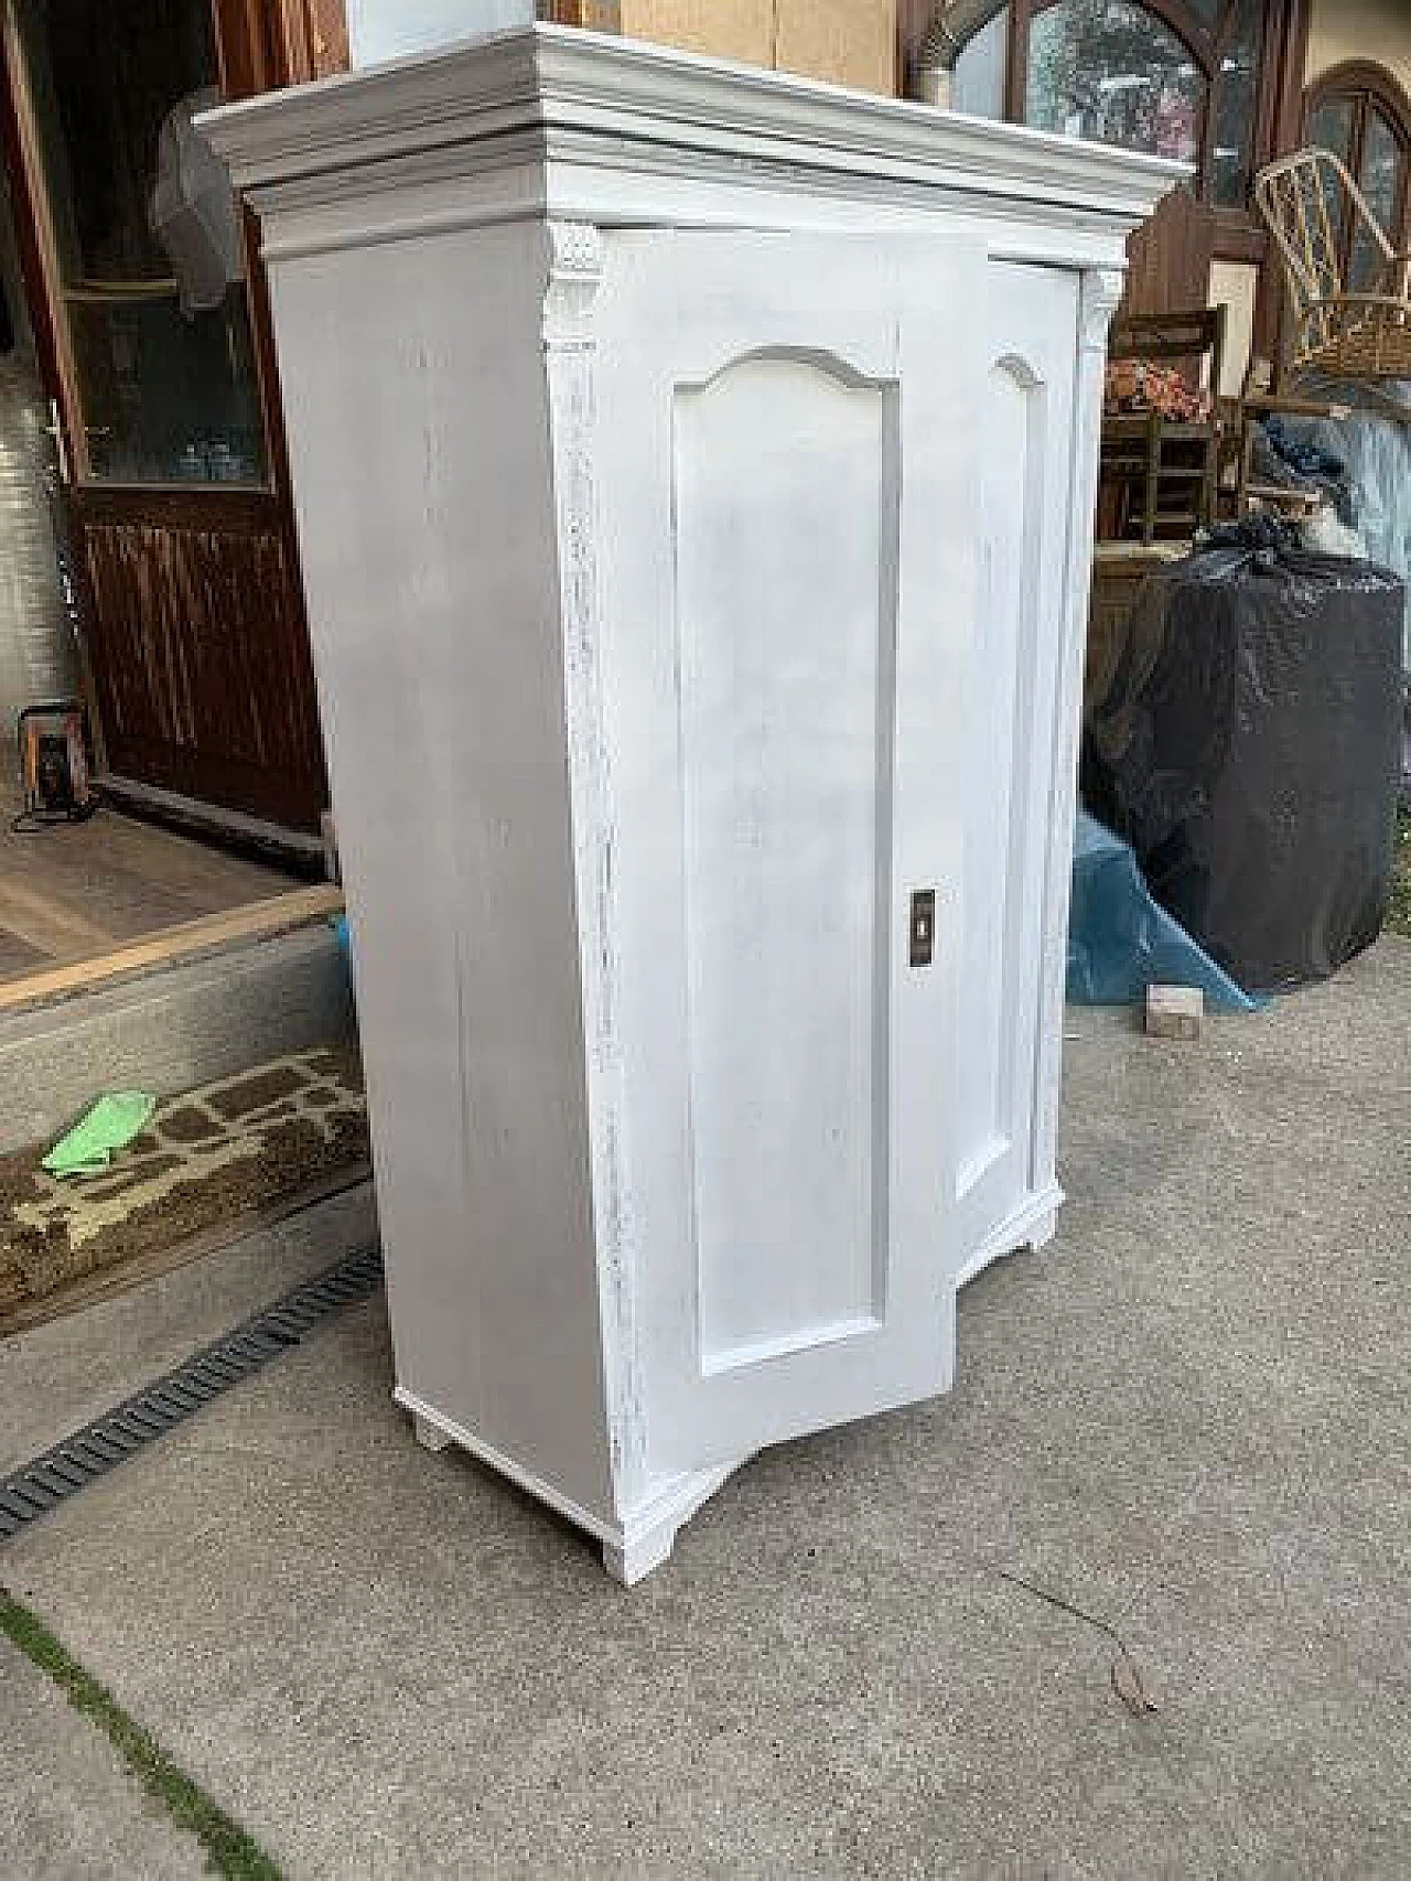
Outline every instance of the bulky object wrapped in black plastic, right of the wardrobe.
POLYGON ((1403 608, 1390 570, 1259 517, 1153 574, 1114 649, 1084 798, 1247 991, 1326 978, 1381 933, 1403 608))

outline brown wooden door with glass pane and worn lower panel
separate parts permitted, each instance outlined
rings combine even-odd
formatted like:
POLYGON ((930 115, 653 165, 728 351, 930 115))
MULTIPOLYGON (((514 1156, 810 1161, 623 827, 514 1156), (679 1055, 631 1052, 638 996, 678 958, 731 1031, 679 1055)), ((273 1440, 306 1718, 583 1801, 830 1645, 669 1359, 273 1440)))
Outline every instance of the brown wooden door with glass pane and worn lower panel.
POLYGON ((55 397, 100 773, 312 833, 327 801, 263 282, 190 113, 269 15, 11 0, 4 119, 55 397))

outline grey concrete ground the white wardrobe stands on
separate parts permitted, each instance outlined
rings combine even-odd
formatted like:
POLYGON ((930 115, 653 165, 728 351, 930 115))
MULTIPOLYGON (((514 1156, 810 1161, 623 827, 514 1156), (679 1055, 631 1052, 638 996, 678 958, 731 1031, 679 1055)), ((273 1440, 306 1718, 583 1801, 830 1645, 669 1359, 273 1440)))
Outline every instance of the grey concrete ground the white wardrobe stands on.
POLYGON ((760 1458, 634 1593, 416 1448, 380 1302, 0 1580, 292 1875, 1405 1875, 1411 944, 1069 1033, 1061 1236, 952 1398, 760 1458))

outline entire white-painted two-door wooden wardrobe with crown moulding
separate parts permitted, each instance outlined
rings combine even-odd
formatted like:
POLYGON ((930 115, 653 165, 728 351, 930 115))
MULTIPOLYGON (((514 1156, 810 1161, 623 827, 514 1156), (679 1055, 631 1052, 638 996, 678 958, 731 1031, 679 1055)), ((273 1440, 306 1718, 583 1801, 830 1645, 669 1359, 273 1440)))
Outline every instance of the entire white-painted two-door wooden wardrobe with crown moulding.
POLYGON ((207 122, 397 1398, 630 1582, 943 1390, 958 1279, 1052 1232, 1101 331, 1174 169, 546 28, 207 122))

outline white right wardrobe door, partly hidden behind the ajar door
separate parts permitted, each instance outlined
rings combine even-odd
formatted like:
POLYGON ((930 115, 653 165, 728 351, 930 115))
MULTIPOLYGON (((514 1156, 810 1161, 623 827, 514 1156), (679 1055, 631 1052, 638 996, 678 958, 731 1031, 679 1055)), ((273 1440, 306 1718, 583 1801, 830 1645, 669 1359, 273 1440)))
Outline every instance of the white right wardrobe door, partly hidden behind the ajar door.
POLYGON ((956 1147, 967 1258, 1054 1181, 1052 1164, 1035 1168, 1033 1157, 1078 329, 1076 275, 995 263, 991 280, 982 581, 965 715, 956 1147))

